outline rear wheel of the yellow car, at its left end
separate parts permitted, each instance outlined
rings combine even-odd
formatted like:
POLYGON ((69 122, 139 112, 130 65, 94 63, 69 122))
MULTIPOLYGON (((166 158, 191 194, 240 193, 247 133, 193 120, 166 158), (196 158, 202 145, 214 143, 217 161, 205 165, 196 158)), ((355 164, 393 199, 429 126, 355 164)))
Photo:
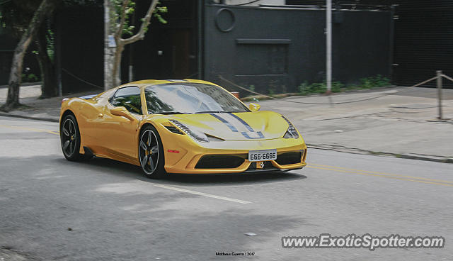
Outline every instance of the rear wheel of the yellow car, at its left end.
POLYGON ((60 143, 64 157, 70 161, 79 161, 83 159, 80 152, 80 131, 76 117, 72 114, 64 116, 62 124, 59 127, 60 143))

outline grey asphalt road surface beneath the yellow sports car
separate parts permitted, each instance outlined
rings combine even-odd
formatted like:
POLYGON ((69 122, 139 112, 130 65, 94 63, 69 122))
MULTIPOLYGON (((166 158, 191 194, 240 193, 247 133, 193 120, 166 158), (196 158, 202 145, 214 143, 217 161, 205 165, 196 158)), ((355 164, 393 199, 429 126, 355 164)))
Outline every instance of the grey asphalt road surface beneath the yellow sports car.
POLYGON ((157 181, 112 160, 68 162, 57 130, 0 117, 0 260, 453 259, 453 165, 309 150, 294 172, 157 181), (441 235, 446 245, 282 248, 282 236, 320 233, 441 235))

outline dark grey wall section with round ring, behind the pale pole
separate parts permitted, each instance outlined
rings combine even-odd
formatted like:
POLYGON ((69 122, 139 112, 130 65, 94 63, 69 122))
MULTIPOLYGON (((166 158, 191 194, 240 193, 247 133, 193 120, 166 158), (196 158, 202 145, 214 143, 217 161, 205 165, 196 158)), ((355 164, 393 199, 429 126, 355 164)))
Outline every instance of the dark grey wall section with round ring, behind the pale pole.
MULTIPOLYGON (((322 82, 325 21, 321 9, 207 5, 204 77, 219 82, 222 75, 263 92, 322 82)), ((389 11, 339 11, 333 21, 334 80, 352 84, 361 77, 389 76, 389 11)))

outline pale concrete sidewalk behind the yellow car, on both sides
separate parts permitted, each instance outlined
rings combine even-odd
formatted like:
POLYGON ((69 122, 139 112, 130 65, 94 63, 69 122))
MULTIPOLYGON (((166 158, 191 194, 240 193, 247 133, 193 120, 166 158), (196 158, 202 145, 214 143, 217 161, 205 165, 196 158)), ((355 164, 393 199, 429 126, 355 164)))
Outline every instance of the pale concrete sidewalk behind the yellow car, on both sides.
MULTIPOLYGON (((436 91, 429 88, 392 88, 332 96, 292 96, 258 103, 261 110, 277 111, 289 118, 311 148, 453 162, 453 89, 443 90, 442 109, 444 118, 450 118, 447 121, 437 121, 436 91), (376 96, 382 97, 329 104, 376 96)), ((64 97, 96 93, 96 90, 86 91, 64 97)), ((21 87, 21 103, 30 108, 0 113, 0 116, 57 122, 62 97, 37 99, 39 95, 39 86, 21 87)), ((6 89, 0 89, 0 104, 5 98, 6 89)))

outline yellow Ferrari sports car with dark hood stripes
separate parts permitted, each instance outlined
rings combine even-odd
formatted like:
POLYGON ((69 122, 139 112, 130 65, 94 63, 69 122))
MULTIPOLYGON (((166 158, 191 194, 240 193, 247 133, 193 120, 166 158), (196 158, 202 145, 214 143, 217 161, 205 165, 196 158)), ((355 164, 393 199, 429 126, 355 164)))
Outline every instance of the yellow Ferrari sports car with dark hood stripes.
POLYGON ((279 113, 259 109, 211 82, 131 82, 64 99, 60 140, 67 160, 120 160, 152 178, 304 167, 306 145, 297 129, 279 113))

